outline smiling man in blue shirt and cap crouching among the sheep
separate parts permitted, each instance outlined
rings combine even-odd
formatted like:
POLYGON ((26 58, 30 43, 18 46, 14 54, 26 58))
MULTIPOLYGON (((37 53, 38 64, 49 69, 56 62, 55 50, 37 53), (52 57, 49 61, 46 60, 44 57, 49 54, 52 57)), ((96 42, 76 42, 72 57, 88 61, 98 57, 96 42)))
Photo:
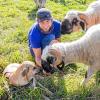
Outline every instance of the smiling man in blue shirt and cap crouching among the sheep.
POLYGON ((52 18, 51 12, 46 8, 37 11, 37 21, 29 31, 29 48, 35 57, 37 66, 41 67, 41 54, 43 48, 50 43, 60 42, 60 22, 52 18))

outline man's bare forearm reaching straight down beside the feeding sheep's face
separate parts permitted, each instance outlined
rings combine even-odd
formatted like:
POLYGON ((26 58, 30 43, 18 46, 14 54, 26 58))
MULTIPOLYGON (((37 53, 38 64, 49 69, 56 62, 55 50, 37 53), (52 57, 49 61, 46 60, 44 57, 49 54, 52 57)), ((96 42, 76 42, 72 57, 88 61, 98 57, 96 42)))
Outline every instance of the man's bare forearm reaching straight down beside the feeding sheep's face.
POLYGON ((38 66, 41 66, 41 48, 32 48, 35 55, 35 62, 38 66))

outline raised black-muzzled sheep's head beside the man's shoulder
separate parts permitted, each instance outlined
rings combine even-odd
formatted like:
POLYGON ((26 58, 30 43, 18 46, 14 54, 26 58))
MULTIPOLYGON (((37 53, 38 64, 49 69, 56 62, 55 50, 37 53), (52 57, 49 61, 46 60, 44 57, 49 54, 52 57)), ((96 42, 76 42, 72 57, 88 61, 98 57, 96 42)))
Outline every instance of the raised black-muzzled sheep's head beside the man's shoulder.
POLYGON ((83 13, 79 13, 78 11, 69 11, 61 23, 61 33, 70 34, 80 29, 85 30, 86 23, 80 18, 81 15, 83 13))

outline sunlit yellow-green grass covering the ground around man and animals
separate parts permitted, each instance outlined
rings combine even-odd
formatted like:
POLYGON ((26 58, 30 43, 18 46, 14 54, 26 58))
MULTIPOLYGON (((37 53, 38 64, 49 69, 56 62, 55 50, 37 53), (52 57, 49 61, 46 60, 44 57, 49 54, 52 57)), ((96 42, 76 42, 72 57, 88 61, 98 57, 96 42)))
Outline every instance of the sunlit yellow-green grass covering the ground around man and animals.
MULTIPOLYGON (((53 17, 62 20, 70 9, 84 11, 88 4, 94 0, 48 0, 46 7, 52 11, 53 17)), ((10 63, 20 63, 31 60, 28 50, 28 30, 35 22, 36 7, 33 0, 0 0, 0 99, 1 100, 42 100, 46 94, 38 85, 33 88, 12 88, 10 92, 5 87, 5 78, 2 76, 4 68, 10 63)), ((73 41, 84 33, 72 33, 62 36, 62 41, 73 41)), ((54 94, 50 100, 86 100, 90 91, 96 87, 95 77, 89 81, 86 88, 80 85, 84 78, 86 67, 76 64, 77 71, 66 69, 65 75, 55 73, 39 80, 54 94)), ((98 85, 99 86, 99 85, 98 85)))

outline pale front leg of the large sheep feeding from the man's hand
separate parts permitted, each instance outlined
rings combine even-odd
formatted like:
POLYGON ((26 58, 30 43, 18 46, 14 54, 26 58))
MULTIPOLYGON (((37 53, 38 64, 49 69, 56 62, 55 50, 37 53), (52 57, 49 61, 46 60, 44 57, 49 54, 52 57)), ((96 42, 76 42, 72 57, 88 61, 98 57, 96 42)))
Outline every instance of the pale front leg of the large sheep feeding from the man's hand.
POLYGON ((93 75, 94 73, 94 67, 89 67, 87 72, 86 72, 86 75, 85 75, 85 79, 83 80, 82 84, 85 86, 86 83, 89 81, 89 79, 91 78, 91 76, 93 75))

